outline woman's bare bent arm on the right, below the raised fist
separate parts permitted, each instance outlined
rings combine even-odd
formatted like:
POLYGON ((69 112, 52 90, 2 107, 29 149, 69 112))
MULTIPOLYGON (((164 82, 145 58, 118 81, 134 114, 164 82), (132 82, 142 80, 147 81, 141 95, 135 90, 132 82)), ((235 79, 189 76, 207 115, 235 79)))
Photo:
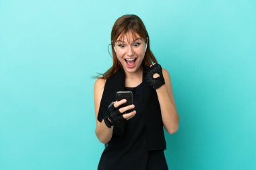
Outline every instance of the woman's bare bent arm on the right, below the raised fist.
POLYGON ((179 128, 179 114, 177 112, 172 93, 170 75, 165 69, 162 69, 162 73, 164 76, 165 84, 162 85, 162 87, 156 89, 156 93, 160 103, 164 128, 168 133, 173 134, 174 132, 177 132, 179 128))

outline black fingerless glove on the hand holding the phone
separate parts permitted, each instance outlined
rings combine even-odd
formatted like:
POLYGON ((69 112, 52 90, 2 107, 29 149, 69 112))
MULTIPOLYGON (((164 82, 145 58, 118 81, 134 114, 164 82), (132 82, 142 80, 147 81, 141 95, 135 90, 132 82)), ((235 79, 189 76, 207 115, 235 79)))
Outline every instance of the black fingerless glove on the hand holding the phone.
POLYGON ((114 102, 112 102, 108 105, 108 109, 106 110, 103 120, 106 126, 111 128, 111 126, 118 124, 121 120, 125 120, 125 118, 123 118, 123 114, 119 112, 119 108, 115 108, 114 102))

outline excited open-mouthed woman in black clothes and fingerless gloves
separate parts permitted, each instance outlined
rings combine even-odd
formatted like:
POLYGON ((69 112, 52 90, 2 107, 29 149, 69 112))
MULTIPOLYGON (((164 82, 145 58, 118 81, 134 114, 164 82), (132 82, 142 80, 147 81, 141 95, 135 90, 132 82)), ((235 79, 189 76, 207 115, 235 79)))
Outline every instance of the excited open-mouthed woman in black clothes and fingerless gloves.
POLYGON ((94 85, 96 135, 105 144, 98 169, 168 169, 163 126, 170 134, 179 127, 170 75, 137 15, 117 19, 111 45, 113 66, 94 85), (117 91, 132 91, 133 104, 122 107, 117 91))

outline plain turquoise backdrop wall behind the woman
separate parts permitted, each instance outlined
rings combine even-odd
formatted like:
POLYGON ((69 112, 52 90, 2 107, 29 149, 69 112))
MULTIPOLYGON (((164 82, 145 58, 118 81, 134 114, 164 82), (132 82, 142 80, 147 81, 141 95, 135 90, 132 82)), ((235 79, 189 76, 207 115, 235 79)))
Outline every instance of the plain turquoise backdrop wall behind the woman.
POLYGON ((0 169, 96 169, 96 73, 134 13, 172 79, 170 169, 256 169, 256 3, 0 0, 0 169))

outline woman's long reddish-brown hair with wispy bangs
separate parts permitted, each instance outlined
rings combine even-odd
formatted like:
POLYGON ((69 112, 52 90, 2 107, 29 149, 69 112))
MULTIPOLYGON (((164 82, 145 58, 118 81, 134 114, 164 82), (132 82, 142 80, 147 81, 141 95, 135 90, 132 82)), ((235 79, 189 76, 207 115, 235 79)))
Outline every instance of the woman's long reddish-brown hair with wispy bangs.
POLYGON ((117 41, 117 38, 121 38, 121 40, 124 38, 125 34, 127 34, 129 31, 131 31, 133 40, 136 38, 135 34, 137 33, 142 40, 145 42, 148 38, 148 47, 145 52, 145 56, 143 58, 143 61, 141 62, 141 66, 143 65, 150 67, 152 65, 152 62, 157 63, 156 57, 150 50, 150 37, 148 36, 148 32, 146 30, 145 25, 143 24, 142 20, 137 15, 123 15, 117 19, 115 22, 112 31, 111 31, 111 48, 112 48, 112 54, 113 54, 113 66, 110 67, 105 73, 99 74, 95 78, 100 79, 108 79, 108 77, 111 77, 114 75, 119 69, 122 69, 123 66, 119 62, 117 58, 117 54, 114 52, 114 46, 115 42, 117 41))

